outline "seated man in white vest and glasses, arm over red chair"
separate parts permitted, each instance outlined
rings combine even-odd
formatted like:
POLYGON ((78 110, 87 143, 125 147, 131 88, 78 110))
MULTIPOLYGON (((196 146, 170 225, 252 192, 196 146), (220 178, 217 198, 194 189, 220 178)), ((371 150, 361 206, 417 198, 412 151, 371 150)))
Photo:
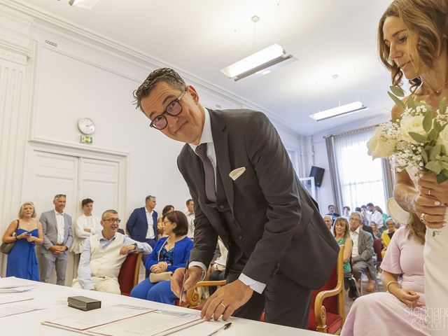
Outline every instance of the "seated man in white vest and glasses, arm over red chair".
POLYGON ((149 244, 117 232, 120 221, 117 211, 104 211, 103 230, 85 239, 78 278, 73 279, 73 287, 120 294, 118 274, 127 254, 136 251, 149 254, 153 251, 149 244))

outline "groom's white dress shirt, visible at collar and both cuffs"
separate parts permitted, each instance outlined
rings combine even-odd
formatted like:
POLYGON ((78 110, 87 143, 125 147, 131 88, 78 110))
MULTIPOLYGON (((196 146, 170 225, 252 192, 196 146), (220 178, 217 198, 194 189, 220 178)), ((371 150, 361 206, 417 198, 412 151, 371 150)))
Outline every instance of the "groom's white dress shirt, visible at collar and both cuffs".
MULTIPOLYGON (((215 173, 215 188, 216 188, 216 151, 215 151, 215 145, 213 142, 213 136, 211 134, 211 121, 210 121, 210 112, 207 109, 204 109, 204 129, 202 130, 201 139, 199 141, 199 144, 207 144, 207 157, 211 161, 211 165, 213 166, 213 170, 215 173)), ((189 144, 190 147, 193 149, 193 151, 196 153, 196 147, 199 145, 189 144)), ((207 272, 207 267, 202 262, 192 261, 189 264, 189 267, 193 266, 200 266, 202 269, 204 269, 204 272, 207 272)), ((241 273, 238 278, 242 283, 244 283, 246 286, 251 287, 255 292, 262 293, 263 290, 265 290, 266 284, 261 283, 259 281, 255 281, 248 276, 241 273)))

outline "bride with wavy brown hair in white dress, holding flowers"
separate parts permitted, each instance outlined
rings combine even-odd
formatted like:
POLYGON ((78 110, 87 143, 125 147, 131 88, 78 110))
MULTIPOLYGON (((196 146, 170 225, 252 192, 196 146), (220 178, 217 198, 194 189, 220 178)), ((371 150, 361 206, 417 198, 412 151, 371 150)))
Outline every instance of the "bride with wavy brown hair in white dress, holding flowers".
MULTIPOLYGON (((379 56, 393 85, 400 85, 404 75, 414 100, 424 100, 434 111, 448 97, 447 34, 446 0, 395 0, 379 21, 379 56)), ((401 114, 393 106, 392 119, 401 114)), ((434 174, 399 172, 393 197, 428 229, 423 254, 429 330, 448 335, 448 181, 437 184, 434 174)))

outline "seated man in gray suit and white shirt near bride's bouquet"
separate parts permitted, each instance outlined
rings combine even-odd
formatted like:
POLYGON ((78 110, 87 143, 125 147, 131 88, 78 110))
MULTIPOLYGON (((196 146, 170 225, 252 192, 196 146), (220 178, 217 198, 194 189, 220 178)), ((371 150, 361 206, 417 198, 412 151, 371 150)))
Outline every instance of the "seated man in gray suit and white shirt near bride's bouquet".
MULTIPOLYGON (((353 212, 350 215, 350 238, 353 241, 351 258, 353 260, 352 272, 356 279, 360 279, 361 272, 366 272, 369 278, 367 291, 374 288, 374 281, 377 279, 377 269, 373 265, 373 239, 369 232, 363 230, 361 214, 353 212)), ((356 299, 356 288, 351 286, 349 297, 356 299)))

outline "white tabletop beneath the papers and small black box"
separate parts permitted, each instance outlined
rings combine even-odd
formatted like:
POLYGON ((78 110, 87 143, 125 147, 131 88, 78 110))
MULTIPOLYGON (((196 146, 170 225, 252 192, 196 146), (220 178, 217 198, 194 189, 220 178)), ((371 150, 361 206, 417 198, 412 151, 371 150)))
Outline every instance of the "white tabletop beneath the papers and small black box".
MULTIPOLYGON (((81 335, 77 332, 52 328, 47 325, 41 325, 41 321, 53 320, 81 312, 67 306, 67 297, 74 295, 83 295, 92 297, 102 301, 102 307, 109 307, 114 304, 132 304, 141 307, 150 307, 155 309, 188 311, 195 312, 193 309, 182 307, 174 307, 167 304, 136 299, 124 295, 116 295, 109 293, 100 293, 93 290, 76 289, 65 286, 52 285, 50 283, 41 283, 18 279, 14 277, 0 279, 0 286, 10 285, 35 285, 35 290, 22 293, 22 295, 34 297, 34 300, 26 302, 48 307, 47 309, 30 311, 25 314, 18 314, 0 318, 0 334, 1 335, 20 335, 20 336, 61 336, 61 335, 81 335)), ((0 294, 1 295, 1 294, 0 294)), ((197 314, 200 312, 197 311, 197 314)), ((257 335, 257 336, 304 336, 304 335, 322 335, 320 332, 302 330, 297 328, 284 327, 282 325, 274 325, 258 321, 250 321, 244 318, 230 318, 232 326, 228 330, 220 331, 217 336, 234 336, 234 335, 257 335)), ((204 322, 193 327, 174 333, 175 336, 200 336, 207 335, 219 328, 218 322, 204 322)))

